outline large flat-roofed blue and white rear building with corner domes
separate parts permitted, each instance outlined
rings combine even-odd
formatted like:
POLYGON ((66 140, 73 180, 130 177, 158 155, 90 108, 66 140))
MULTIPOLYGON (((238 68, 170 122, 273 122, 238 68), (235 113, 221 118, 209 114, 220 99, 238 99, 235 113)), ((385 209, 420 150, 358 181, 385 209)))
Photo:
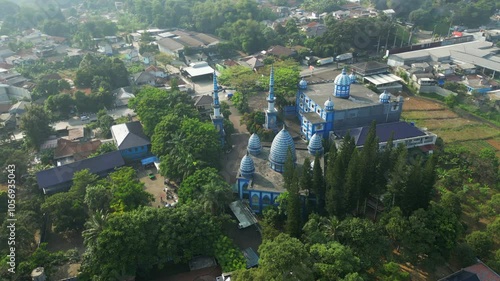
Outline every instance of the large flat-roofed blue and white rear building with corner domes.
POLYGON ((300 81, 296 96, 296 112, 301 134, 310 140, 314 134, 328 138, 334 130, 399 121, 404 99, 397 97, 381 102, 378 94, 353 83, 354 75, 345 70, 333 83, 308 85, 300 81), (333 93, 332 93, 333 91, 333 93))

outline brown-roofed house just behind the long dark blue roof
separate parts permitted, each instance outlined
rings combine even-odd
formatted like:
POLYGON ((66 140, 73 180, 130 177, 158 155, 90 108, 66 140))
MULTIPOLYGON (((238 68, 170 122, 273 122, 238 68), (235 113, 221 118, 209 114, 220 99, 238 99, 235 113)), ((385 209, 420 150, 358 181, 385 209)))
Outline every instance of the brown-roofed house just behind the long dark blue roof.
POLYGON ((62 166, 87 159, 92 153, 97 151, 99 146, 101 146, 100 140, 75 142, 60 138, 57 140, 57 146, 54 149, 54 160, 57 162, 57 166, 62 166))

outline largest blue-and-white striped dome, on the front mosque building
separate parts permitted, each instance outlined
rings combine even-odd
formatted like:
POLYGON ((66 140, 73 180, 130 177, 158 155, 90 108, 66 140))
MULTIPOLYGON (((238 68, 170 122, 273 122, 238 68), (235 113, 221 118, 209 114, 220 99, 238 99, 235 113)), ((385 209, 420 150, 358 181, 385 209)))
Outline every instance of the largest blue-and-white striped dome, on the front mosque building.
POLYGON ((283 172, 283 165, 285 164, 288 149, 292 151, 293 162, 297 161, 295 154, 295 143, 288 131, 283 128, 273 139, 271 144, 271 152, 269 153, 269 162, 271 168, 277 172, 283 172))

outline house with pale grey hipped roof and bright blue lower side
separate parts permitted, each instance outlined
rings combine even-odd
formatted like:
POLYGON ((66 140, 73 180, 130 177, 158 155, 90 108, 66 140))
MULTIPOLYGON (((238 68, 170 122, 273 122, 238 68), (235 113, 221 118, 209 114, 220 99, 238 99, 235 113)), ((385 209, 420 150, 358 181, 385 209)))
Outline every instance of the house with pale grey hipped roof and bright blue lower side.
POLYGON ((139 160, 150 155, 151 142, 144 134, 141 122, 114 125, 111 134, 125 160, 139 160))

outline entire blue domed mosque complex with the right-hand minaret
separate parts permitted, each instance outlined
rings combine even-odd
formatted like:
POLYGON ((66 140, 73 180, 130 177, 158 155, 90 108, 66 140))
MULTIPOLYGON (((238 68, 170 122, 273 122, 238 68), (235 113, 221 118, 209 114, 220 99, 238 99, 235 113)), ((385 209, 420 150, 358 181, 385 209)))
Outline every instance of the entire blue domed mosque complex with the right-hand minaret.
POLYGON ((436 135, 399 121, 404 102, 401 96, 393 98, 386 91, 379 95, 356 83, 356 76, 347 74, 345 69, 334 76, 333 83, 309 85, 305 79, 298 83, 294 109, 300 132, 294 134, 300 137, 294 138, 285 126, 281 130, 277 127, 279 112, 275 108, 274 69, 271 68, 264 127, 279 132, 270 146, 261 143, 258 135, 250 136, 236 178, 240 199, 248 200, 254 212, 275 204, 276 198, 285 191, 282 173, 288 151, 294 163, 300 166, 306 157, 323 155, 323 140, 336 141, 347 131, 355 138, 357 147, 362 147, 373 120, 377 123, 381 148, 393 134, 394 145, 404 143, 412 147, 435 143, 436 135))

